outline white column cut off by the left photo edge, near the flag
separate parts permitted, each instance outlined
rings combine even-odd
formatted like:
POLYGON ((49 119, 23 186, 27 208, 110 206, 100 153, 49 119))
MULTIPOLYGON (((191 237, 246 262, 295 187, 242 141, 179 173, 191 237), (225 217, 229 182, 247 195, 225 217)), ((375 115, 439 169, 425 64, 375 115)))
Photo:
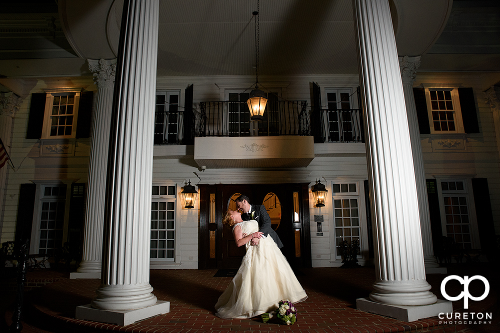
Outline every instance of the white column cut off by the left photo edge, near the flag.
MULTIPOLYGON (((12 119, 19 109, 22 98, 13 92, 0 93, 0 139, 5 145, 5 150, 10 157, 10 137, 12 135, 12 119)), ((8 163, 8 162, 7 162, 8 163)), ((15 165, 14 165, 15 167, 15 165)), ((3 220, 3 200, 5 198, 5 191, 7 188, 7 172, 10 169, 9 164, 5 164, 0 169, 0 220, 3 220)), ((1 225, 0 225, 1 235, 1 225)))

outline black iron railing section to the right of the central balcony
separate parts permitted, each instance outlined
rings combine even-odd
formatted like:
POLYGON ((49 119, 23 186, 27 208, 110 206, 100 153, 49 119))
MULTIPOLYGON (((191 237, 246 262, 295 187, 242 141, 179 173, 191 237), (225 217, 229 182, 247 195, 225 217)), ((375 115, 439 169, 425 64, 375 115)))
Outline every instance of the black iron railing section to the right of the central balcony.
POLYGON ((321 124, 325 142, 357 142, 363 137, 359 109, 321 109, 321 124))

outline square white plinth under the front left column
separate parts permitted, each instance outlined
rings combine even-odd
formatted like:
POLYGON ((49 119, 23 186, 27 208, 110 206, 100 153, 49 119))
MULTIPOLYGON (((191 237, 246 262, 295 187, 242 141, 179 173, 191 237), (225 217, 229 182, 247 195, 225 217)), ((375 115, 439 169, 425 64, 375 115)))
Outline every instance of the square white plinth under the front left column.
POLYGON ((136 310, 99 310, 90 304, 76 307, 76 319, 126 326, 146 318, 170 312, 170 302, 156 301, 156 304, 136 310))

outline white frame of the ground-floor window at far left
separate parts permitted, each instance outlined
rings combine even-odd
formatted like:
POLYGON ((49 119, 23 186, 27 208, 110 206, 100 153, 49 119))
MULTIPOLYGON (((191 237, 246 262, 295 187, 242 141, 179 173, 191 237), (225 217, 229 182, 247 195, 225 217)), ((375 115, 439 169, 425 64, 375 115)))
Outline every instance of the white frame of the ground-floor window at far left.
MULTIPOLYGON (((67 233, 68 233, 68 221, 69 221, 69 205, 71 201, 71 181, 60 181, 60 180, 40 180, 33 181, 36 184, 35 190, 35 200, 34 200, 34 209, 33 209, 33 224, 31 227, 31 238, 29 244, 29 253, 30 254, 38 254, 39 252, 39 244, 40 244, 40 224, 41 224, 41 210, 42 203, 49 200, 65 200, 64 205, 64 223, 62 229, 62 244, 67 241, 67 233), (54 187, 60 185, 66 185, 66 195, 65 198, 54 198, 54 197, 45 197, 44 189, 45 187, 54 187)), ((41 256, 43 257, 43 256, 41 256)))

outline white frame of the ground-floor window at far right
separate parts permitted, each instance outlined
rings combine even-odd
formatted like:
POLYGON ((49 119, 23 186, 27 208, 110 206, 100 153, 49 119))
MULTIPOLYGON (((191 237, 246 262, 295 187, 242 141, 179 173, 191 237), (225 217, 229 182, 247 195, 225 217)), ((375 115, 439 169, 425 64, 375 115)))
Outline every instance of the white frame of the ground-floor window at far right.
POLYGON ((477 216, 475 212, 475 202, 474 195, 472 193, 472 179, 471 178, 460 178, 460 176, 441 176, 436 177, 437 194, 439 197, 439 213, 441 217, 441 230, 442 235, 447 236, 446 231, 446 215, 444 211, 444 197, 445 196, 461 196, 465 197, 467 200, 467 212, 469 219, 469 231, 470 231, 470 245, 472 249, 479 249, 479 233, 477 229, 477 216), (442 191, 441 182, 450 181, 461 181, 463 183, 462 191, 442 191))

